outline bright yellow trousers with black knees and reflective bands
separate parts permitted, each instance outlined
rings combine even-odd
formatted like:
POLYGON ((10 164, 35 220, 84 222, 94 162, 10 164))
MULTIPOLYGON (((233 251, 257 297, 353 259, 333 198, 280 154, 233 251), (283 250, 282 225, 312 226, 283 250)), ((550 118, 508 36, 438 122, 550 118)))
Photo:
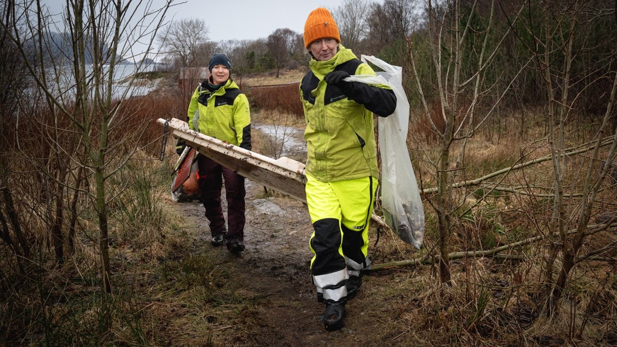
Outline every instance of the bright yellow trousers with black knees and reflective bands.
POLYGON ((368 225, 377 180, 369 176, 325 183, 307 174, 305 190, 314 228, 309 241, 313 283, 324 299, 339 301, 347 296, 349 275, 371 267, 368 225))

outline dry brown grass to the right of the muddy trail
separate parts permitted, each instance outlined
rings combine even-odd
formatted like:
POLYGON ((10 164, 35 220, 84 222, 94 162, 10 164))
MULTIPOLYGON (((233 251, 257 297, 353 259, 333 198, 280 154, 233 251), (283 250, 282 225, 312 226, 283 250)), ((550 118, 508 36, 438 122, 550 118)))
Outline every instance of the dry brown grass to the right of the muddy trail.
MULTIPOLYGON (((541 123, 540 127, 525 129, 526 136, 521 136, 518 130, 507 131, 521 127, 516 119, 508 119, 504 124, 502 132, 482 132, 474 136, 466 146, 464 160, 460 162, 458 170, 453 171, 455 182, 478 178, 489 172, 507 169, 511 165, 550 154, 544 141, 534 142, 544 137, 541 123)), ((413 139, 411 143, 414 144, 411 149, 415 157, 414 169, 416 175, 421 175, 424 188, 435 185, 435 168, 429 165, 429 162, 436 161, 439 155, 437 136, 429 129, 426 122, 419 119, 410 126, 409 134, 413 139), (430 160, 426 160, 427 158, 430 160)), ((451 150, 452 158, 457 159, 460 146, 453 146, 451 150)), ((450 167, 455 169, 454 162, 451 164, 450 167)), ((586 165, 584 157, 568 157, 565 165, 565 186, 580 188, 582 177, 586 173, 582 170, 586 165)), ((597 176, 597 172, 594 175, 597 176)), ((470 207, 473 209, 470 214, 461 213, 458 217, 462 218, 452 220, 450 249, 453 252, 491 249, 531 236, 545 235, 544 223, 550 219, 552 213, 552 202, 549 199, 499 191, 491 193, 491 187, 494 186, 492 183, 512 187, 532 185, 535 188, 529 191, 535 194, 549 193, 553 185, 551 162, 533 165, 503 178, 495 177, 482 185, 454 191, 455 203, 460 202, 457 211, 467 211, 470 207), (479 198, 484 194, 489 196, 480 201, 479 198)), ((609 201, 614 194, 615 187, 611 185, 600 192, 596 201, 597 212, 594 213, 613 215, 615 207, 609 201)), ((428 200, 432 197, 428 195, 425 198, 428 200)), ((392 240, 387 239, 386 243, 376 250, 374 255, 378 261, 420 259, 434 251, 439 239, 434 225, 436 216, 426 204, 424 211, 425 248, 410 254, 405 251, 405 246, 400 241, 395 240, 395 236, 391 236, 392 240)), ((572 227, 576 225, 575 220, 568 223, 572 227)), ((589 246, 581 253, 602 249, 612 241, 615 241, 614 235, 588 238, 589 246)), ((612 246, 603 254, 615 252, 617 251, 612 246)), ((394 309, 399 312, 400 319, 419 327, 415 330, 416 335, 426 333, 423 340, 430 340, 431 345, 606 345, 607 340, 615 343, 616 335, 610 333, 610 330, 617 325, 614 304, 617 278, 611 262, 579 264, 569 280, 566 289, 568 294, 558 307, 561 318, 549 319, 546 317, 542 299, 545 290, 545 264, 542 259, 549 257, 547 246, 539 241, 511 249, 503 256, 506 259, 509 256, 509 260, 469 258, 452 261, 452 287, 444 288, 439 285, 437 269, 425 268, 426 271, 419 276, 426 280, 423 283, 423 292, 426 294, 418 295, 418 278, 408 278, 404 282, 410 284, 406 290, 407 293, 414 293, 410 295, 413 298, 406 303, 397 304, 394 309), (598 310, 599 303, 603 303, 600 306, 605 309, 598 310), (598 314, 598 311, 602 313, 598 314), (440 335, 436 329, 431 328, 437 326, 442 327, 445 334, 440 335)), ((560 269, 560 259, 561 257, 557 257, 553 265, 555 271, 560 269)), ((379 290, 381 288, 373 295, 382 298, 379 290)), ((398 290, 405 292, 400 288, 398 290)))

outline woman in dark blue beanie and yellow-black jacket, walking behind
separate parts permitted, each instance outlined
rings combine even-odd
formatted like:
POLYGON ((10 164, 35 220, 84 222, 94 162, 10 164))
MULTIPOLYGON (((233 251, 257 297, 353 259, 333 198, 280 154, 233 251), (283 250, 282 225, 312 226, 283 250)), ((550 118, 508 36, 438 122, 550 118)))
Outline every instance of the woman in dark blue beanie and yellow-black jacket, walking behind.
MULTIPOLYGON (((230 78, 231 61, 225 54, 214 54, 209 64, 210 77, 197 86, 187 112, 189 128, 244 149, 251 150, 249 101, 230 78)), ((182 144, 176 148, 182 153, 182 144)), ((238 255, 244 251, 246 217, 244 177, 199 154, 199 188, 205 217, 210 222, 212 246, 225 244, 238 255), (227 229, 221 206, 225 182, 227 229)))

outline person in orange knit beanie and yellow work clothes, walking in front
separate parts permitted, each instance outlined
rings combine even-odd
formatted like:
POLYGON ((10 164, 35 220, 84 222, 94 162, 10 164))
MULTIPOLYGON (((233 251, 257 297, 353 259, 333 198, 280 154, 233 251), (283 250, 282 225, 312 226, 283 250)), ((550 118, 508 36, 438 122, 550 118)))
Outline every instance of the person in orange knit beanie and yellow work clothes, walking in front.
POLYGON ((344 325, 345 304, 371 269, 368 225, 378 185, 373 114, 387 117, 396 96, 387 85, 348 82, 350 75, 375 75, 341 44, 330 12, 310 12, 304 46, 312 57, 300 83, 308 159, 305 191, 313 233, 311 275, 325 303, 323 323, 344 325))

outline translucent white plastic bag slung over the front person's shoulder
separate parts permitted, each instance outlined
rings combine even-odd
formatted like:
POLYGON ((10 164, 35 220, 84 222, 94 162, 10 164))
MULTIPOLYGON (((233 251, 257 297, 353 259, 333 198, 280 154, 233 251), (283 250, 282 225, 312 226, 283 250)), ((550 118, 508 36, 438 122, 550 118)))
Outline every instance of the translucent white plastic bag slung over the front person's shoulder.
POLYGON ((407 151, 409 102, 403 90, 402 68, 387 64, 373 56, 362 56, 363 62, 376 65, 378 76, 355 75, 350 81, 386 84, 396 94, 394 114, 378 117, 379 150, 381 151, 381 208, 386 224, 400 239, 420 249, 424 241, 424 207, 418 190, 412 161, 407 151))

